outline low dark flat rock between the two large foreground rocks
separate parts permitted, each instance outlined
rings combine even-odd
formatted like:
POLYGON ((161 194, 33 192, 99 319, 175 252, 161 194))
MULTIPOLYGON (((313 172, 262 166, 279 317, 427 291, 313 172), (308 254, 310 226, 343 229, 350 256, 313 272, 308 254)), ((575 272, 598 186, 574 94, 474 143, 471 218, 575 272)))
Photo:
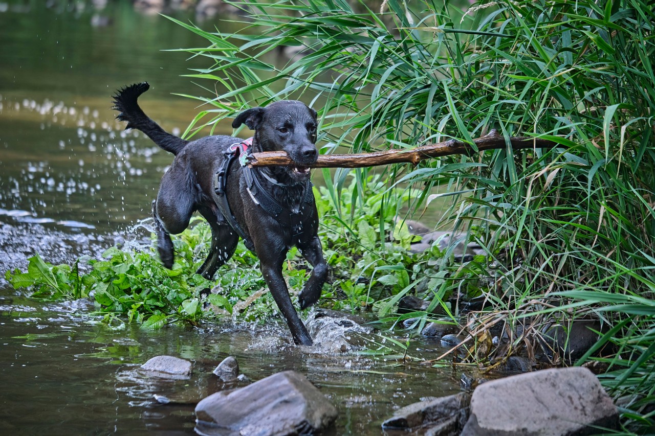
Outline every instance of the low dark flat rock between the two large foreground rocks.
POLYGON ((471 395, 460 392, 448 397, 421 401, 396 410, 384 421, 384 430, 418 431, 430 435, 457 435, 468 419, 471 395))

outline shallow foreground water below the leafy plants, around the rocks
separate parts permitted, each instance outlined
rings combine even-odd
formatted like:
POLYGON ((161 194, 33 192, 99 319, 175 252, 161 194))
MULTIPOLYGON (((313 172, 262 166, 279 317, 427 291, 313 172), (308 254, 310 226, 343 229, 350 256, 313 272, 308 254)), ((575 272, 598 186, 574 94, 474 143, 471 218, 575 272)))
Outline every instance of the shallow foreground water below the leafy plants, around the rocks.
MULTIPOLYGON (((90 310, 86 301, 39 304, 6 291, 0 295, 3 434, 192 434, 195 401, 244 386, 223 384, 212 374, 227 355, 236 356, 253 381, 288 369, 305 374, 339 410, 328 434, 379 434, 392 410, 458 391, 455 375, 447 370, 403 367, 352 352, 271 350, 263 342, 286 332, 270 324, 112 330, 90 310), (191 380, 159 380, 136 371, 162 354, 195 361, 191 380), (155 393, 189 404, 160 405, 155 393)), ((441 352, 436 344, 414 346, 430 350, 410 354, 436 357, 441 352)))

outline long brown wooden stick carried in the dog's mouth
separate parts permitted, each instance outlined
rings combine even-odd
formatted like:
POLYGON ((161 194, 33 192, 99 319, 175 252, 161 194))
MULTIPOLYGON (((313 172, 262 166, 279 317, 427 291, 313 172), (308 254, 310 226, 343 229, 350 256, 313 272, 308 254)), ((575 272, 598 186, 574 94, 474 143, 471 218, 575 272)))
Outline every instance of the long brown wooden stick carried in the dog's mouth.
MULTIPOLYGON (((512 149, 552 149, 559 144, 548 139, 539 139, 533 137, 510 137, 512 149)), ((498 134, 496 129, 491 130, 487 136, 474 139, 478 151, 491 149, 504 149, 507 145, 505 138, 498 134)), ((318 156, 318 160, 312 165, 312 168, 362 168, 365 166, 377 166, 398 164, 407 162, 416 165, 421 160, 448 156, 449 154, 467 154, 476 153, 471 145, 462 141, 440 142, 437 144, 423 145, 411 150, 388 150, 377 151, 375 153, 359 154, 323 154, 318 156)), ((253 153, 248 158, 249 166, 289 166, 293 161, 284 151, 267 151, 265 153, 253 153)))

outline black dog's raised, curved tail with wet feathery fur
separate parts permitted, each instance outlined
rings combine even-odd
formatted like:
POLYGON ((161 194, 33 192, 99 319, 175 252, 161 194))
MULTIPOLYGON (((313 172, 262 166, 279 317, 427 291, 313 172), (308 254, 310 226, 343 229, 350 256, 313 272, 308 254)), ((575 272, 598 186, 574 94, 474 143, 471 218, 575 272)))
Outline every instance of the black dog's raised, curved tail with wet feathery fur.
POLYGON ((189 143, 181 137, 177 137, 166 132, 159 124, 151 120, 139 107, 137 99, 141 94, 149 90, 148 82, 135 83, 130 86, 124 86, 116 92, 114 98, 114 109, 119 111, 116 118, 120 121, 127 121, 127 129, 138 129, 145 133, 155 144, 162 149, 178 154, 189 143))

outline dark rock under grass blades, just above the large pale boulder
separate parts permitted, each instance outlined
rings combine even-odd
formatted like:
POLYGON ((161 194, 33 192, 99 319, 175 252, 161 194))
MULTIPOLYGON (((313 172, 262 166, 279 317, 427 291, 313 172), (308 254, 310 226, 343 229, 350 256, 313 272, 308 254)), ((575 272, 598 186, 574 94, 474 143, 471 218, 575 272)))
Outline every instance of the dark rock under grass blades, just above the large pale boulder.
POLYGON ((595 331, 603 331, 599 321, 573 321, 567 328, 556 325, 544 333, 542 349, 550 359, 557 353, 567 363, 574 362, 598 342, 595 331))

